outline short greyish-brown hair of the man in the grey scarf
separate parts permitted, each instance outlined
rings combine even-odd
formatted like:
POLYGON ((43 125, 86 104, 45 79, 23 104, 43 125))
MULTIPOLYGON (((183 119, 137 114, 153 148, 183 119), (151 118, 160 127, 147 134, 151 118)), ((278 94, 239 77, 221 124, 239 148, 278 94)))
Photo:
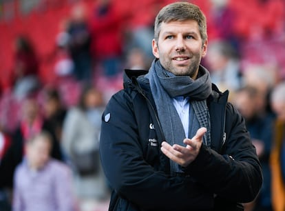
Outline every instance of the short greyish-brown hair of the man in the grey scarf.
POLYGON ((170 3, 158 12, 154 23, 154 39, 158 41, 161 23, 171 21, 197 21, 203 44, 207 40, 207 21, 198 6, 189 2, 170 3))

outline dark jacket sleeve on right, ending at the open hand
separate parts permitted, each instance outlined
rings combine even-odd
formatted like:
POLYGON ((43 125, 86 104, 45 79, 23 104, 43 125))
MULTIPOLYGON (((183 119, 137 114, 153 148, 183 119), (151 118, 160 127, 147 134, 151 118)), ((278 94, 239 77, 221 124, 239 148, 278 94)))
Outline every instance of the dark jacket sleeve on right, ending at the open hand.
POLYGON ((226 106, 226 142, 222 154, 202 145, 187 172, 230 201, 246 203, 257 196, 262 185, 260 161, 243 117, 230 103, 226 106))

